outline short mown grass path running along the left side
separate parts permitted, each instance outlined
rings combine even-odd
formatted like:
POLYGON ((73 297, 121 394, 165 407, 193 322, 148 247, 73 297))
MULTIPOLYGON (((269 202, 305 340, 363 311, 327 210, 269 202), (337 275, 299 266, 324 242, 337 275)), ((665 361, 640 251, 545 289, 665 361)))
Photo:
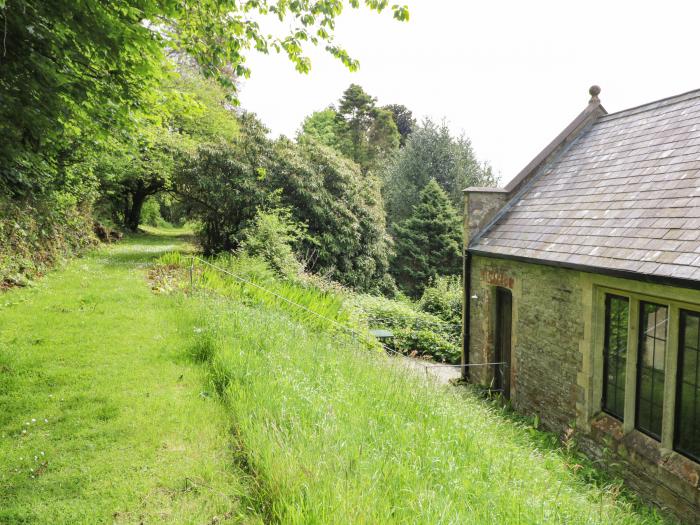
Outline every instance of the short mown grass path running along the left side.
POLYGON ((140 235, 0 295, 0 523, 246 521, 230 419, 185 359, 192 302, 140 235))

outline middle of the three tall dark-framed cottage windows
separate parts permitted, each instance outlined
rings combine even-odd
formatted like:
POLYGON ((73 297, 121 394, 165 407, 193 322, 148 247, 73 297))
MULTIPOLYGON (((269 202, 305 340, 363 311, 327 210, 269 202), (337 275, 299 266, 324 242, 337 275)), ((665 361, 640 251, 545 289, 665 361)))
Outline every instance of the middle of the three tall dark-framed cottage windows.
POLYGON ((636 426, 642 432, 660 439, 668 307, 641 301, 639 318, 636 426))

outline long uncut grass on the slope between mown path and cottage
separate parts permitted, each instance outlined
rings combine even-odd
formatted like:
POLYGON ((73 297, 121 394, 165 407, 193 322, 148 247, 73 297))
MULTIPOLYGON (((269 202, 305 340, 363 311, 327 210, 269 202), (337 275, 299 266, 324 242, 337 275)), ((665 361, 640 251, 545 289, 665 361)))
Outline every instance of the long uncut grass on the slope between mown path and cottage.
MULTIPOLYGON (((246 504, 265 521, 664 523, 617 490, 585 483, 562 454, 537 448, 526 428, 468 391, 425 381, 206 273, 200 285, 232 300, 210 298, 192 354, 230 412, 237 461, 255 479, 246 504)), ((347 320, 328 293, 251 277, 347 320)))

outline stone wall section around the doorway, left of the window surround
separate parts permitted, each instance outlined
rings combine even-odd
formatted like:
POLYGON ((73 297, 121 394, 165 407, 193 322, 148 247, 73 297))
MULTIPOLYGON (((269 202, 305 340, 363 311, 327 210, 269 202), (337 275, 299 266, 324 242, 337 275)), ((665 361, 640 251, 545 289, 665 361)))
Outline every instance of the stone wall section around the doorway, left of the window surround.
MULTIPOLYGON (((545 426, 562 429, 576 420, 583 337, 581 289, 576 272, 473 257, 472 363, 494 361, 496 287, 513 293, 511 399, 545 426)), ((472 367, 473 380, 489 384, 493 367, 472 367)))

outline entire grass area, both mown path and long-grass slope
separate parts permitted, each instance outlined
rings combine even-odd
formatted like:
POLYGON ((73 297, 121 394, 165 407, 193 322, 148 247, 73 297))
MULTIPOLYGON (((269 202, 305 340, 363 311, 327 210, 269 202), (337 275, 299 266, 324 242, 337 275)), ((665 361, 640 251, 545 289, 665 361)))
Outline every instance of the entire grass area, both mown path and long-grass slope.
POLYGON ((332 323, 201 268, 179 293, 188 246, 152 233, 0 296, 0 523, 665 523, 332 323))

